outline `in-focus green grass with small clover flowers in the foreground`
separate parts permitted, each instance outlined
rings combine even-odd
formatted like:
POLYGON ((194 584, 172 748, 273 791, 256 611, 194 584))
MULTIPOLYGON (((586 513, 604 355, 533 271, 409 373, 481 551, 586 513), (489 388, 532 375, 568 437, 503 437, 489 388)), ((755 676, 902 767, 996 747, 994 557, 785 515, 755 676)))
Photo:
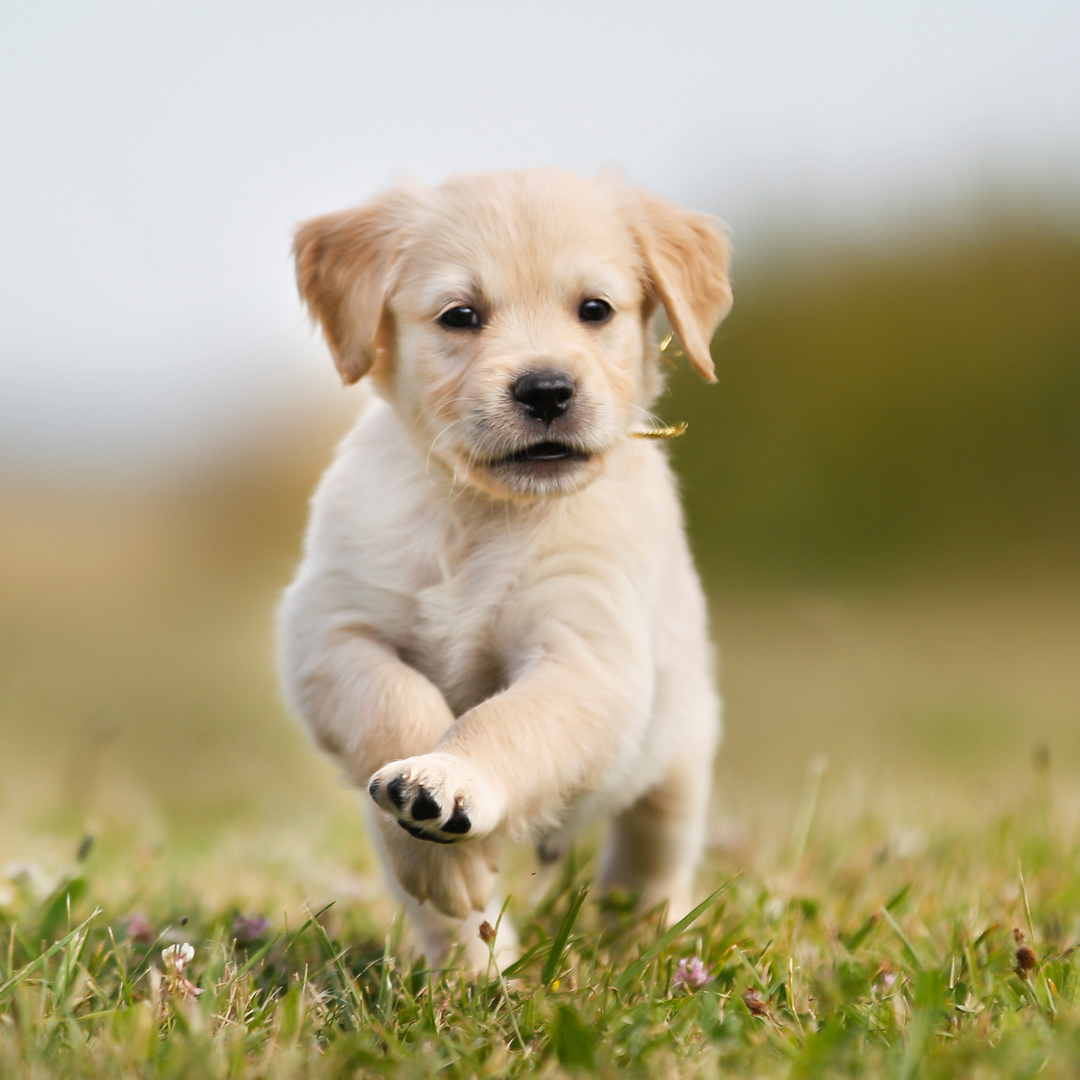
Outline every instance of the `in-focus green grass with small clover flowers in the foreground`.
POLYGON ((535 902, 518 860, 526 951, 505 982, 427 970, 377 903, 275 910, 283 882, 310 885, 302 858, 231 856, 242 907, 206 903, 167 852, 82 845, 8 870, 0 1075, 1076 1076, 1080 831, 1043 762, 1017 784, 1013 809, 921 811, 913 837, 872 812, 814 820, 810 783, 791 842, 714 850, 714 894, 666 933, 588 893, 588 850, 535 902), (168 989, 180 942, 198 996, 168 989), (693 957, 700 987, 677 977, 693 957))

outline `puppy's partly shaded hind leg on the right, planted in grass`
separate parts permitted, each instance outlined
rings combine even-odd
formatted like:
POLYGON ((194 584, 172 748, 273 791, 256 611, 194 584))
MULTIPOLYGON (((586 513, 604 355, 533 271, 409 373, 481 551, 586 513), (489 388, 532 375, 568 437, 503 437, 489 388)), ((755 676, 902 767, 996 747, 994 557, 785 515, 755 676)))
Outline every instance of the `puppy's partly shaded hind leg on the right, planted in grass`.
POLYGON ((644 909, 666 904, 670 922, 686 915, 693 906, 711 786, 711 754, 673 761, 660 782, 612 822, 600 859, 600 889, 637 893, 644 909))

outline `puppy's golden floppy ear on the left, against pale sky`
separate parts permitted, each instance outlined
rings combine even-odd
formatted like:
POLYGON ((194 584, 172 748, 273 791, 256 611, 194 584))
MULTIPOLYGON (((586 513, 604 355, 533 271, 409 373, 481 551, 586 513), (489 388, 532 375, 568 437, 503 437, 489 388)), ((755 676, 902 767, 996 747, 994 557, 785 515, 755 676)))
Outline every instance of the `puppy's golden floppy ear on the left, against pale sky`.
POLYGON ((296 230, 300 296, 319 320, 347 384, 366 375, 386 351, 387 297, 415 207, 416 193, 396 189, 296 230))

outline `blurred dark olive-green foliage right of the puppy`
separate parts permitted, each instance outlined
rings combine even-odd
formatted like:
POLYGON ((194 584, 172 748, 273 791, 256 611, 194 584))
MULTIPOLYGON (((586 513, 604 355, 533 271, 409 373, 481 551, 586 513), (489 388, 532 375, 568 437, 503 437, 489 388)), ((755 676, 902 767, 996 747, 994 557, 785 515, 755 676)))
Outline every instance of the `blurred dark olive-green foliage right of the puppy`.
POLYGON ((680 365, 661 404, 710 578, 1080 551, 1080 234, 773 257, 714 354, 718 387, 680 365))

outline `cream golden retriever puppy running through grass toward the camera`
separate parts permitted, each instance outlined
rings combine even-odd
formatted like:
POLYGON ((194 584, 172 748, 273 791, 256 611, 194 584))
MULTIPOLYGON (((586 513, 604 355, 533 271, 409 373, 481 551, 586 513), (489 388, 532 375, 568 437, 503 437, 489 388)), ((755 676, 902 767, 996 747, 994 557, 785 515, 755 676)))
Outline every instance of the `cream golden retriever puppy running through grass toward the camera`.
MULTIPOLYGON (((666 456, 653 314, 715 381, 717 222, 561 171, 403 186, 296 234, 300 293, 373 393, 281 607, 288 700, 370 794, 423 953, 487 961, 503 838, 612 819, 604 889, 691 905, 720 733, 666 456)), ((496 944, 516 942, 503 920, 496 944)))

